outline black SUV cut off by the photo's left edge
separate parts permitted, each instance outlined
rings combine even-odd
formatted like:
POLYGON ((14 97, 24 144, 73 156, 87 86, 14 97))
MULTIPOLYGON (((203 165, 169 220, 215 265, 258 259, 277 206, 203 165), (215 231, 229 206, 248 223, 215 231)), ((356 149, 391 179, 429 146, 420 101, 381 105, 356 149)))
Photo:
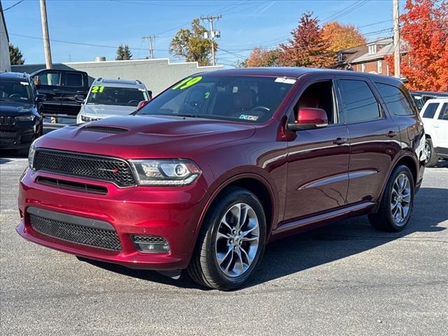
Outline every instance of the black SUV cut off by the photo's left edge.
POLYGON ((28 153, 31 142, 43 132, 44 100, 27 73, 0 73, 0 150, 28 153))

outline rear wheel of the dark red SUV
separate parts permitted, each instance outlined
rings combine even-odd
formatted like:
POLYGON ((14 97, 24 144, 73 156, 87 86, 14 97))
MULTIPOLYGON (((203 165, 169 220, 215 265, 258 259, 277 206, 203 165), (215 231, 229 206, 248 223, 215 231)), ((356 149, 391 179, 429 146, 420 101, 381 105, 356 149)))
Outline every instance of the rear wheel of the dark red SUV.
POLYGON ((369 214, 370 224, 377 230, 397 232, 405 228, 414 206, 414 179, 408 167, 396 167, 387 183, 379 209, 369 214))

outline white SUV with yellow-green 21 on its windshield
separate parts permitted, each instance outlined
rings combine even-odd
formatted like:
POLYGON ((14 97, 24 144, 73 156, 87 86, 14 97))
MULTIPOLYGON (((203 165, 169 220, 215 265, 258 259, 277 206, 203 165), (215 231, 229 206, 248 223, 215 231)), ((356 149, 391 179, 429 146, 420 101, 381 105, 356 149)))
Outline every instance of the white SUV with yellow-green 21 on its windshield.
POLYGON ((76 121, 84 123, 111 116, 126 116, 134 112, 140 102, 148 102, 151 94, 140 80, 98 78, 90 87, 76 121))

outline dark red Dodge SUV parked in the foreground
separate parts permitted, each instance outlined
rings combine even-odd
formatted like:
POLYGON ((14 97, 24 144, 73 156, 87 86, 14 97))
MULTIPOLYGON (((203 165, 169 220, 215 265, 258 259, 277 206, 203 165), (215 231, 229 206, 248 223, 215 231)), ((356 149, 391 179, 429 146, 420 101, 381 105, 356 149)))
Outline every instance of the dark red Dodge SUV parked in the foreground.
POLYGON ((133 114, 31 146, 22 237, 228 290, 279 237, 363 214, 402 230, 422 181, 423 124, 395 78, 198 73, 133 114))

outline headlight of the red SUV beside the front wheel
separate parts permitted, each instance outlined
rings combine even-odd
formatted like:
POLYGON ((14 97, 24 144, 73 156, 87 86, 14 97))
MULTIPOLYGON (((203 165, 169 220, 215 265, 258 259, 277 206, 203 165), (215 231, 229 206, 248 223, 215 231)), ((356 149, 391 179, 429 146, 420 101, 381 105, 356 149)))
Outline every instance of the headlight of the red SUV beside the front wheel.
POLYGON ((187 186, 201 174, 190 160, 130 160, 141 186, 187 186))

